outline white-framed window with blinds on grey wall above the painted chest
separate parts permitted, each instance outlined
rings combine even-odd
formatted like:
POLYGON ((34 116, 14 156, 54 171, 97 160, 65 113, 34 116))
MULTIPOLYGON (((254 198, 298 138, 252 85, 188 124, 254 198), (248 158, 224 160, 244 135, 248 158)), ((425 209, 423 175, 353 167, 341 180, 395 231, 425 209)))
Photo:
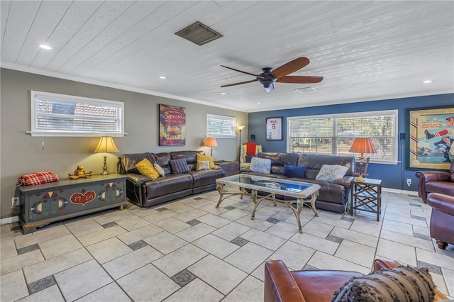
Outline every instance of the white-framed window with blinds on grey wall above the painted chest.
POLYGON ((123 136, 124 103, 31 91, 33 136, 123 136))

